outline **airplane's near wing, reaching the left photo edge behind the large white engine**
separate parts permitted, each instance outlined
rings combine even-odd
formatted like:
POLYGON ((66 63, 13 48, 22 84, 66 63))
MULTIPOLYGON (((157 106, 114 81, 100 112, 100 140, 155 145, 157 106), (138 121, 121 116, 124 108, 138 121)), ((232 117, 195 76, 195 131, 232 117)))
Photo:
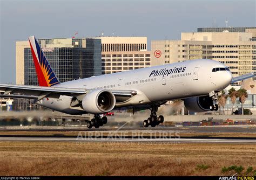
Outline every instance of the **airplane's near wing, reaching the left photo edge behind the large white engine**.
MULTIPOLYGON (((59 98, 60 95, 79 96, 92 91, 91 89, 82 88, 64 88, 64 87, 43 87, 43 86, 23 86, 0 84, 0 98, 22 98, 37 99, 59 98)), ((127 98, 135 95, 135 91, 129 90, 109 90, 114 96, 125 96, 127 98)))

